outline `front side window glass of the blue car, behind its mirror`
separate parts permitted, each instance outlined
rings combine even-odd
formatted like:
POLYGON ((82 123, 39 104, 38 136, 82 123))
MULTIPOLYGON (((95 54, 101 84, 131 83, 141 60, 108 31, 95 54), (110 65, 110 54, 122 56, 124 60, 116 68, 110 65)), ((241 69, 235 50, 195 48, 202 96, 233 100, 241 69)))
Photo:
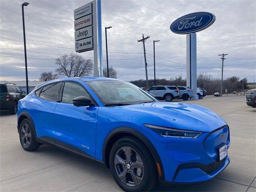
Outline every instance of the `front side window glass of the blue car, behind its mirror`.
POLYGON ((84 90, 84 88, 77 83, 65 82, 62 94, 62 102, 73 103, 73 99, 78 96, 85 96, 90 98, 90 95, 84 90))

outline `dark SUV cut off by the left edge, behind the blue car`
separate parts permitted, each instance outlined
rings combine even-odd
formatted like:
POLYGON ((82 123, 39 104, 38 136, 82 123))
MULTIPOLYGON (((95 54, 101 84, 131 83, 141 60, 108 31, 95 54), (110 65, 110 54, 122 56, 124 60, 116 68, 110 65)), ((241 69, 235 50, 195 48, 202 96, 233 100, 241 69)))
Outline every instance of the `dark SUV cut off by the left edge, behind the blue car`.
POLYGON ((10 110, 12 115, 17 113, 17 105, 20 99, 26 96, 16 84, 0 84, 0 110, 10 110))

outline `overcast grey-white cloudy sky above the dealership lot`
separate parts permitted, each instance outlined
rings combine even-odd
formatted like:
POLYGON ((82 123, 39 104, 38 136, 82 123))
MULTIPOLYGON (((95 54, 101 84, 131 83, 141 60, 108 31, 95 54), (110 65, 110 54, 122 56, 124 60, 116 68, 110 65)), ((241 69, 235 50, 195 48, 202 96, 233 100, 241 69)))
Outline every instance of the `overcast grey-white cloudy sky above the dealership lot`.
MULTIPOLYGON (((0 0, 0 80, 25 80, 22 32, 22 0, 0 0)), ((90 0, 28 0, 25 7, 29 80, 55 70, 55 59, 74 52, 73 10, 90 0)), ((197 70, 221 78, 221 59, 226 53, 224 78, 256 80, 255 0, 102 0, 103 67, 108 58, 122 80, 145 79, 142 33, 146 41, 148 77, 154 78, 153 40, 156 42, 156 76, 186 78, 186 35, 174 34, 170 24, 198 11, 212 12, 216 22, 197 33, 197 70)), ((93 59, 93 51, 80 53, 93 59)))

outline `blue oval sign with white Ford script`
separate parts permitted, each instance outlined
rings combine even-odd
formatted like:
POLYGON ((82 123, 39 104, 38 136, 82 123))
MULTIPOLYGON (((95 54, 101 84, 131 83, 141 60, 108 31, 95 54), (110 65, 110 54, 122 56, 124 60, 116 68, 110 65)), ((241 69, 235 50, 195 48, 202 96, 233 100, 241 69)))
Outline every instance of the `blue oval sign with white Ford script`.
POLYGON ((202 31, 211 26, 216 20, 214 14, 209 12, 195 12, 176 19, 170 26, 172 32, 188 34, 202 31))

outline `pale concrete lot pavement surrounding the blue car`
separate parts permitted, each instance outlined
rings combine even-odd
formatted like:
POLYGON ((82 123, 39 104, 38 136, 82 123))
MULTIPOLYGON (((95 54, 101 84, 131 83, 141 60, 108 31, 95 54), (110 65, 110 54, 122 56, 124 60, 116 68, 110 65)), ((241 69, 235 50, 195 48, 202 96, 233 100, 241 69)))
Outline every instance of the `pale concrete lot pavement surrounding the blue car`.
MULTIPOLYGON (((156 186, 154 191, 256 192, 256 109, 245 97, 175 100, 198 104, 222 116, 230 126, 229 166, 210 182, 156 186)), ((0 191, 122 191, 104 164, 42 145, 34 152, 20 146, 16 115, 0 113, 0 191)))

